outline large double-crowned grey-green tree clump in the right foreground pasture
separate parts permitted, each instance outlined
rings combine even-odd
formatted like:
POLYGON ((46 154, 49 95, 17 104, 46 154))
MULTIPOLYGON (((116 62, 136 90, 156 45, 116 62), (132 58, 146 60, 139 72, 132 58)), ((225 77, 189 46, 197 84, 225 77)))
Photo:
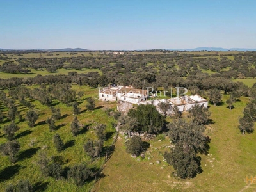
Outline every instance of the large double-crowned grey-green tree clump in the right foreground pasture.
POLYGON ((173 166, 178 177, 195 177, 201 170, 196 154, 207 154, 209 150, 210 139, 204 136, 204 126, 180 119, 168 124, 168 129, 175 147, 164 154, 166 162, 173 166))

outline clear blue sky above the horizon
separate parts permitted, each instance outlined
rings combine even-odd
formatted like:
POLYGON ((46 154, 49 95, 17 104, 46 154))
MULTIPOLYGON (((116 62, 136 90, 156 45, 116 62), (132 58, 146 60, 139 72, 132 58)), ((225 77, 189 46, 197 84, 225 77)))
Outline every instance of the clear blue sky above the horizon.
POLYGON ((256 48, 255 0, 0 0, 0 48, 256 48))

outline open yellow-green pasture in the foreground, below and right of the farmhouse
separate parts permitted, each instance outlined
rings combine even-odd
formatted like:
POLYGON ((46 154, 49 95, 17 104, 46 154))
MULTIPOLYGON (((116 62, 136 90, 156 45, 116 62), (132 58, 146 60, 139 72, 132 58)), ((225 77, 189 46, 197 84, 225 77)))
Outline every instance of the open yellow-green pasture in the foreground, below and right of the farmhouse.
POLYGON ((104 168, 106 176, 97 182, 94 191, 255 191, 256 185, 250 186, 255 188, 245 188, 245 178, 246 175, 256 175, 256 134, 243 136, 237 128, 246 102, 248 98, 242 97, 232 111, 226 104, 210 105, 214 124, 209 125, 206 132, 211 138, 211 148, 209 155, 202 156, 203 172, 197 177, 179 180, 172 176, 172 166, 164 163, 161 155, 169 143, 167 138, 161 142, 149 141, 150 159, 146 157, 138 161, 125 153, 124 138, 121 137, 104 168), (150 165, 150 162, 154 164, 150 165))

